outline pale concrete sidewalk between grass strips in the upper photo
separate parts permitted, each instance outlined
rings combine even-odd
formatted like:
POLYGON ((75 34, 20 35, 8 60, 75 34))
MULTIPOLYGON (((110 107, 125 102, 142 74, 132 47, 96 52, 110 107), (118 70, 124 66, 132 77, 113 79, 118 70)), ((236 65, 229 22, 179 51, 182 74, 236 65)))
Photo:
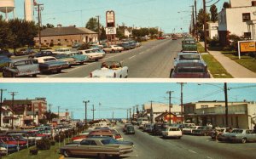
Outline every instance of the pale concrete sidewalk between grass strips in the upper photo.
MULTIPOLYGON (((200 42, 202 46, 204 46, 203 42, 200 42)), ((224 69, 230 73, 230 75, 234 78, 256 78, 256 73, 248 70, 247 68, 239 65, 234 60, 230 60, 230 58, 226 57, 224 54, 221 54, 219 51, 210 51, 208 50, 212 56, 218 60, 218 62, 224 66, 224 69)))

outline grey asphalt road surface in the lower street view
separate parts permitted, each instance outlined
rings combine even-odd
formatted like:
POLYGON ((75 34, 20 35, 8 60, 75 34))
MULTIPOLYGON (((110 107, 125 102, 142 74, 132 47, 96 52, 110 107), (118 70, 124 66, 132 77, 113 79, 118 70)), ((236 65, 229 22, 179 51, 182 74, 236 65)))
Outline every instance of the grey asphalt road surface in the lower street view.
MULTIPOLYGON (((122 133, 122 125, 117 129, 122 133)), ((162 139, 136 128, 135 134, 122 133, 125 140, 134 142, 133 152, 120 156, 120 158, 136 159, 213 159, 213 158, 255 158, 256 143, 230 144, 212 140, 208 136, 183 135, 182 139, 162 139)), ((79 158, 79 157, 78 157, 79 158)), ((74 157, 69 157, 74 159, 74 157)))

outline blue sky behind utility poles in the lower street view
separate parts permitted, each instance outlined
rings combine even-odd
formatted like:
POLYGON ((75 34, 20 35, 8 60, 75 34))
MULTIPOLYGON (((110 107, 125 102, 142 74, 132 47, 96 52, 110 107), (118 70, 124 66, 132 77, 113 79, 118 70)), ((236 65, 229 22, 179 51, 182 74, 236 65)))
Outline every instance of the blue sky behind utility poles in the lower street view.
MULTIPOLYGON (((95 105, 95 118, 126 118, 126 110, 150 100, 168 104, 167 91, 172 93, 172 104, 180 104, 180 84, 176 82, 0 82, 3 99, 11 99, 9 92, 18 92, 15 99, 35 99, 45 97, 51 104, 51 111, 73 111, 74 118, 84 118, 83 101, 88 103, 88 118, 92 118, 92 105, 95 105), (101 105, 99 105, 101 103, 101 105)), ((183 86, 183 103, 199 100, 224 101, 224 83, 189 82, 183 86)), ((228 100, 256 101, 256 83, 228 83, 228 100)), ((132 111, 132 109, 131 109, 132 111)))

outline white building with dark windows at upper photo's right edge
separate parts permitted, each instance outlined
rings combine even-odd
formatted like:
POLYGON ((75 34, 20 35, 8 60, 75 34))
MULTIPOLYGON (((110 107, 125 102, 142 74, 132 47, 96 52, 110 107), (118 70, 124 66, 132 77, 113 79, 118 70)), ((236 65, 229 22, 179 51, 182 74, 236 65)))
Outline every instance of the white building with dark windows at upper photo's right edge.
POLYGON ((220 43, 230 43, 229 35, 241 37, 245 32, 251 32, 255 38, 256 3, 253 0, 231 0, 230 9, 222 9, 218 13, 218 37, 220 43), (253 14, 254 13, 254 14, 253 14))

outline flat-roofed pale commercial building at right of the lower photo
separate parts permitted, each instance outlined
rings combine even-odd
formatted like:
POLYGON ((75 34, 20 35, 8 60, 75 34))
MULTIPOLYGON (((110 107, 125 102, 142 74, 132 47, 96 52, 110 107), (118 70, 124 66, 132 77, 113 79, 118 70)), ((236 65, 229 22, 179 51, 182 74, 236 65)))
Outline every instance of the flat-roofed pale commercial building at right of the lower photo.
MULTIPOLYGON (((224 101, 198 101, 184 104, 184 119, 186 122, 194 122, 196 125, 226 127, 224 101)), ((256 117, 255 102, 229 102, 228 103, 228 127, 253 128, 256 117)))

